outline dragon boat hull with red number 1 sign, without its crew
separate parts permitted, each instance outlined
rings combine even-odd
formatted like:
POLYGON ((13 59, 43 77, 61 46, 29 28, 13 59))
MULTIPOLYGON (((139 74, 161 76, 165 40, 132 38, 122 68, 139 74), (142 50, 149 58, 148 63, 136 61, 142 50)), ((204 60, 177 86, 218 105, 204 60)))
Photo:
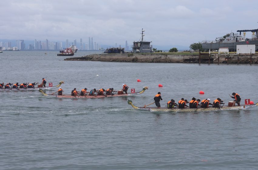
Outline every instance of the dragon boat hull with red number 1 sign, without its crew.
POLYGON ((256 104, 244 104, 240 106, 220 106, 219 108, 216 107, 208 107, 208 108, 184 108, 184 109, 179 109, 179 108, 173 108, 173 109, 168 109, 167 107, 137 107, 132 103, 132 100, 127 100, 127 103, 130 104, 134 109, 140 109, 140 110, 148 110, 148 111, 154 111, 154 112, 203 112, 203 111, 216 111, 216 110, 240 110, 240 109, 248 109, 250 107, 256 107, 258 106, 258 103, 256 104))

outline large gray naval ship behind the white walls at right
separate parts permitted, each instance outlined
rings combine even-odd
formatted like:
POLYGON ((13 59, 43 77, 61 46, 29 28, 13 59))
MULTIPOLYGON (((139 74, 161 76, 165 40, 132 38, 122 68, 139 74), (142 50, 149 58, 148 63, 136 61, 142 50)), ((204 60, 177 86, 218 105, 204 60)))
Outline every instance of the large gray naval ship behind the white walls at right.
POLYGON ((236 51, 236 45, 254 44, 255 51, 258 49, 258 29, 251 30, 237 30, 240 34, 234 34, 231 32, 226 38, 219 37, 215 41, 202 41, 202 49, 219 49, 222 47, 228 47, 229 51, 236 51), (243 32, 243 36, 241 36, 243 32), (246 32, 253 32, 252 38, 246 38, 246 32))

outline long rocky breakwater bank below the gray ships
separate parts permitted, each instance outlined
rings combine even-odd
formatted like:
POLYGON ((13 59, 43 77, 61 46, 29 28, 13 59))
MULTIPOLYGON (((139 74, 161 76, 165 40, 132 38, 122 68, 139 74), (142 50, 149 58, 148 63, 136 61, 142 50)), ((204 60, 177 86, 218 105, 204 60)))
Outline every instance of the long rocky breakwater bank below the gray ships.
MULTIPOLYGON (((125 53, 125 54, 92 54, 82 57, 66 58, 67 61, 109 61, 134 63, 250 63, 250 54, 218 55, 173 54, 173 53, 125 53)), ((258 63, 258 55, 252 55, 252 64, 258 63)))

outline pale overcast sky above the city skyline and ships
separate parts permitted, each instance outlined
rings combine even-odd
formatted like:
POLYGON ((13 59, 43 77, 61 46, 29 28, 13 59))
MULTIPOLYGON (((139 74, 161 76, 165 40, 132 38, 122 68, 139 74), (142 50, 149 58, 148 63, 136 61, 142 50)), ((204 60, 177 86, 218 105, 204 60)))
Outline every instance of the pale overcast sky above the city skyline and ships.
MULTIPOLYGON (((258 28, 257 0, 1 0, 0 39, 189 46, 258 28)), ((250 34, 248 34, 250 35, 250 34)))

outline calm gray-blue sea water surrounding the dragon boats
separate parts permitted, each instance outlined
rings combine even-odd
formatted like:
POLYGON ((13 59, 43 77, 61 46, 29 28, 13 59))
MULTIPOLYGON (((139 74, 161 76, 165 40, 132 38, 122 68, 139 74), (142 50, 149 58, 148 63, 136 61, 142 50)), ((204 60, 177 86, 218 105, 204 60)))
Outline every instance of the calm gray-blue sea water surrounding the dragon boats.
POLYGON ((162 106, 182 97, 220 97, 227 103, 233 92, 242 104, 249 98, 258 102, 257 65, 64 58, 56 52, 0 53, 0 82, 41 82, 44 77, 54 85, 64 81, 66 94, 85 87, 119 90, 123 83, 129 90, 149 90, 134 97, 78 100, 49 98, 38 91, 0 92, 0 169, 257 169, 258 108, 161 113, 127 104, 127 99, 136 106, 150 104, 158 91, 162 106), (205 94, 199 95, 200 90, 205 94))

